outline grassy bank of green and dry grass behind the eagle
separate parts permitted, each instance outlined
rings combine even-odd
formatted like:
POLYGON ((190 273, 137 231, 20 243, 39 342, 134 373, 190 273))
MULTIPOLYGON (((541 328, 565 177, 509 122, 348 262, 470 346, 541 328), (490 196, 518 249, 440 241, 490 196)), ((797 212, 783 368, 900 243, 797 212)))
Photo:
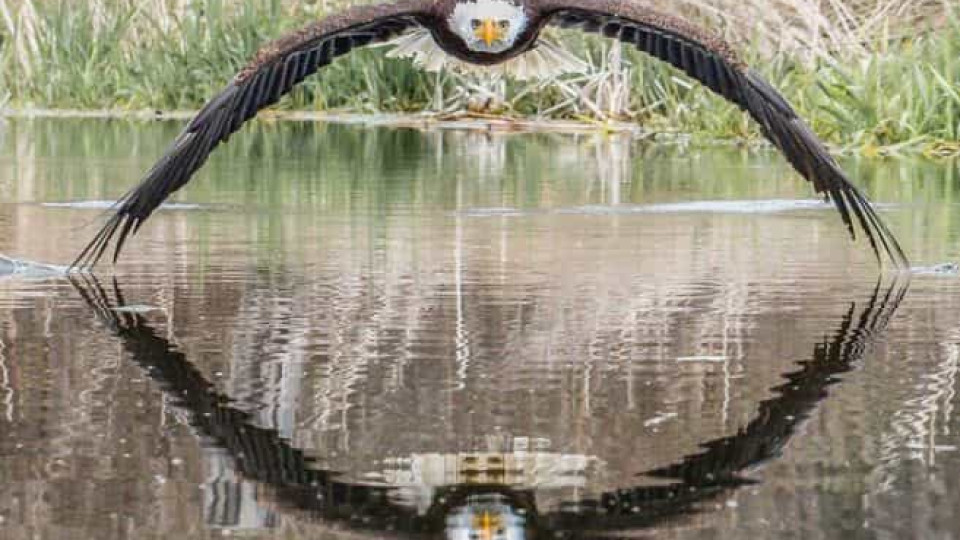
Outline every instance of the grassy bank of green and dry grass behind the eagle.
MULTIPOLYGON (((741 48, 751 62, 833 144, 865 153, 960 151, 955 14, 941 6, 947 15, 935 17, 935 30, 928 30, 931 17, 920 15, 932 11, 897 14, 891 11, 896 2, 889 13, 851 8, 844 19, 810 15, 802 11, 804 1, 766 0, 766 11, 757 11, 761 0, 741 2, 735 4, 743 6, 739 20, 736 9, 717 7, 722 1, 669 5, 683 4, 688 16, 746 44, 741 48), (784 15, 782 22, 757 19, 756 13, 771 10, 784 15), (913 35, 907 37, 904 24, 914 27, 913 35), (735 32, 742 28, 750 28, 749 35, 735 32)), ((343 3, 0 0, 0 105, 197 108, 260 44, 343 3)), ((544 85, 490 83, 424 73, 373 49, 338 60, 280 107, 454 110, 472 96, 493 95, 506 114, 629 118, 657 131, 756 137, 738 110, 671 68, 602 40, 578 34, 564 40, 589 60, 590 73, 544 85)))

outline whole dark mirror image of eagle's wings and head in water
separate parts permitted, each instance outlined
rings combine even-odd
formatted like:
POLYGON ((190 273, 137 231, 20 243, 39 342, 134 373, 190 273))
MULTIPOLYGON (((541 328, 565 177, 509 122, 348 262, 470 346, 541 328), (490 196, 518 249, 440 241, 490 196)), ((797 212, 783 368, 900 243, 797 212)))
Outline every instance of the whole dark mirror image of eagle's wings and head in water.
POLYGON ((314 466, 302 450, 271 428, 252 422, 236 408, 163 334, 125 306, 116 282, 112 292, 90 276, 72 277, 97 318, 122 342, 171 402, 190 419, 196 434, 223 449, 247 480, 268 488, 280 511, 339 524, 360 532, 450 540, 583 538, 655 526, 704 510, 703 503, 755 483, 742 476, 748 468, 779 455, 838 383, 863 357, 870 341, 886 327, 908 282, 878 283, 865 304, 851 303, 810 357, 783 374, 754 419, 735 435, 702 445, 703 451, 639 476, 664 482, 605 492, 592 500, 560 504, 538 512, 531 488, 490 481, 461 481, 432 490, 426 509, 399 504, 396 488, 351 483, 314 466))

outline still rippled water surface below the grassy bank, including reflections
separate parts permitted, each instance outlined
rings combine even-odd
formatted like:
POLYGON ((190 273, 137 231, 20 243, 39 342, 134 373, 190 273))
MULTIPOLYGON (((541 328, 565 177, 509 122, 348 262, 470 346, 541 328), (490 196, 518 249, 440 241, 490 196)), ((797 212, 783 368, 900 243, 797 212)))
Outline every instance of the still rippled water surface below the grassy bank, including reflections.
POLYGON ((907 287, 767 149, 264 122, 62 277, 178 129, 0 125, 0 537, 960 538, 956 163, 844 164, 907 287))

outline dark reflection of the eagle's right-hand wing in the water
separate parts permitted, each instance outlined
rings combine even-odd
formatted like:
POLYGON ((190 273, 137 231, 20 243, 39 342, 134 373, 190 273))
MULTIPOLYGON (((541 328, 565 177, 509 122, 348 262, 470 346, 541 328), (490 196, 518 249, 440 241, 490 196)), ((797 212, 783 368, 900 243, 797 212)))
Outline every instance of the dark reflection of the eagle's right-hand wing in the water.
POLYGON ((786 381, 771 388, 774 396, 762 401, 753 420, 736 434, 707 441, 700 453, 641 473, 645 485, 562 505, 542 516, 543 522, 562 531, 648 527, 709 508, 705 503, 719 494, 753 483, 744 473, 780 455, 840 375, 854 369, 884 332, 909 285, 909 275, 886 286, 878 282, 865 306, 851 304, 832 336, 817 343, 798 369, 783 374, 786 381))

